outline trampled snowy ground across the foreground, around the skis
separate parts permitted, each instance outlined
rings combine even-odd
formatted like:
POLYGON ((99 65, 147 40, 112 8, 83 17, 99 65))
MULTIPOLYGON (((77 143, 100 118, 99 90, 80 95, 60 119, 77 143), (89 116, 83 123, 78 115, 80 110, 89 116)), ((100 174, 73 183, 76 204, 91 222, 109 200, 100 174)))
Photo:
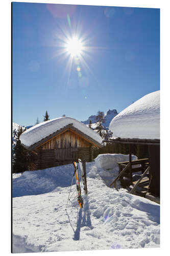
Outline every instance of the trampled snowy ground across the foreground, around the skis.
POLYGON ((159 247, 159 205, 109 188, 118 169, 86 163, 88 196, 78 209, 73 165, 13 179, 13 252, 159 247))

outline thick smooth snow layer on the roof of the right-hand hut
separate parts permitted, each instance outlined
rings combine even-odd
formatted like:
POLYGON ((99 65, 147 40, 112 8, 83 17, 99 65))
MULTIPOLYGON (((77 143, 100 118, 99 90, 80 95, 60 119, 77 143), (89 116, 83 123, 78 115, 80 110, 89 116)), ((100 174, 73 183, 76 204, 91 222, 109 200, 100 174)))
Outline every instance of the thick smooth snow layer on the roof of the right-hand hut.
POLYGON ((112 119, 109 129, 114 137, 160 139, 160 91, 128 106, 112 119))

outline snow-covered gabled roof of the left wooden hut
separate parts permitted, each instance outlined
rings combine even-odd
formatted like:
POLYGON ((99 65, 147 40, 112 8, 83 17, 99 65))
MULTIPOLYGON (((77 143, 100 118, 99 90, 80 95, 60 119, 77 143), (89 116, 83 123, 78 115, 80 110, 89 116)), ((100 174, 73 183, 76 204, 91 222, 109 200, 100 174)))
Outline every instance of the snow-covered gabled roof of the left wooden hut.
POLYGON ((94 132, 85 124, 71 117, 59 117, 42 123, 38 123, 22 133, 20 135, 20 141, 24 146, 30 147, 31 145, 37 143, 45 137, 48 137, 49 135, 52 135, 53 133, 59 131, 60 129, 64 128, 69 124, 71 124, 77 130, 81 131, 83 134, 90 137, 91 140, 94 140, 94 142, 96 142, 97 144, 102 143, 102 137, 99 134, 94 132))

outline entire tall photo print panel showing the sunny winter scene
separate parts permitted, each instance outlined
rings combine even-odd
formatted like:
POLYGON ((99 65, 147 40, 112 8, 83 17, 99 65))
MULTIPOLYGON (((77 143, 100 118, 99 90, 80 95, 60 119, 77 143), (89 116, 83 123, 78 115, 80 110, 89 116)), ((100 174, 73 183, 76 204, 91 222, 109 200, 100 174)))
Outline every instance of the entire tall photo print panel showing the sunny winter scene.
POLYGON ((159 28, 159 9, 12 3, 13 253, 160 246, 159 28))

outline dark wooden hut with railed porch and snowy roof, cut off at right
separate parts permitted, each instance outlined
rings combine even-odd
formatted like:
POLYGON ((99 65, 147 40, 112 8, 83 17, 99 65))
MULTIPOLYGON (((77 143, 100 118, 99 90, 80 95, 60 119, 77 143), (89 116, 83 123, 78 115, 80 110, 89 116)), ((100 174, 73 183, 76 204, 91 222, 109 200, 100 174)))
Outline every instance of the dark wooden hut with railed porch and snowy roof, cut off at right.
MULTIPOLYGON (((141 164, 142 173, 150 172, 149 192, 160 196, 160 91, 143 96, 115 116, 109 126, 114 138, 109 142, 129 144, 129 162, 119 163, 121 175, 129 170, 132 184, 132 164, 141 164), (149 159, 132 161, 131 145, 148 146, 149 159), (134 163, 132 163, 134 162, 134 163)), ((120 178, 120 176, 118 177, 120 178)), ((115 183, 115 181, 113 181, 115 183)), ((136 183, 137 184, 137 183, 136 183)), ((134 189, 132 189, 134 191, 134 189)))

